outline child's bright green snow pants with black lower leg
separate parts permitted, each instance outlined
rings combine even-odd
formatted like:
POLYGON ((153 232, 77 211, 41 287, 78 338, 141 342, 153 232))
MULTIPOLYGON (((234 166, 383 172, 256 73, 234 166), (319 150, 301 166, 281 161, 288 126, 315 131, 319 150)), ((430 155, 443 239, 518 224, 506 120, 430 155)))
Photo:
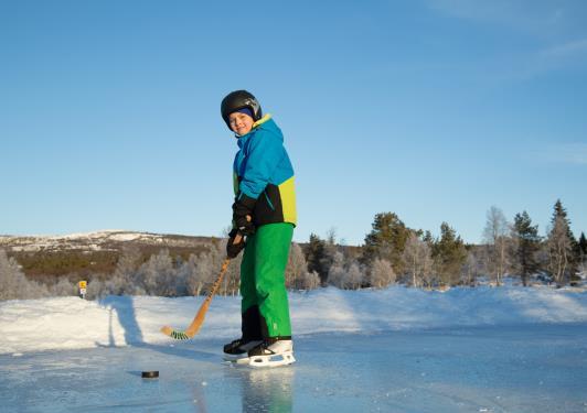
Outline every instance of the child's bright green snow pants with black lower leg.
POLYGON ((241 264, 243 338, 291 337, 286 267, 291 224, 267 224, 247 238, 241 264))

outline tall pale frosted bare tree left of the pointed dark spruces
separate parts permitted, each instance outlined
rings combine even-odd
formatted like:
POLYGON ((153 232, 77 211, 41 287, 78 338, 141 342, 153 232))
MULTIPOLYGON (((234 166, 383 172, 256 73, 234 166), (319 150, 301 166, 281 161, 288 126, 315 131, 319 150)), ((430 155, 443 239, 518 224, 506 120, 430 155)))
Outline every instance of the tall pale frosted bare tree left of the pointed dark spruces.
POLYGON ((489 208, 483 238, 489 249, 489 271, 493 274, 498 286, 501 285, 501 280, 509 267, 509 232, 510 226, 503 211, 495 206, 489 208))

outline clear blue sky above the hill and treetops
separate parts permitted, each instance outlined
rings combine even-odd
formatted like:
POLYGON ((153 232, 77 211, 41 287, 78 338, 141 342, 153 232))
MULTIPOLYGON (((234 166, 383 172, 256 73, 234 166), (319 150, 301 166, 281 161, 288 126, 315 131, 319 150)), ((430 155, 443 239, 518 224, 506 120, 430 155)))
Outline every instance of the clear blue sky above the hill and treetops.
POLYGON ((587 231, 587 3, 2 1, 0 233, 220 236, 253 91, 297 175, 295 240, 377 213, 479 242, 495 205, 587 231))

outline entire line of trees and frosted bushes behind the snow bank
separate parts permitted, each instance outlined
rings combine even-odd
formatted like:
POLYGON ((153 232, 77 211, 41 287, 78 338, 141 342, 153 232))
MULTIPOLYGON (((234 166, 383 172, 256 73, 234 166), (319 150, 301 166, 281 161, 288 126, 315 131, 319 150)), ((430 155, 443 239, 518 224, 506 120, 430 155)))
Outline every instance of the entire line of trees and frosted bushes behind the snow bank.
MULTIPOLYGON (((587 240, 570 230, 561 200, 554 206, 544 236, 529 214, 509 221, 501 209, 487 214, 484 243, 466 244, 447 222, 440 236, 408 228, 394 213, 375 215, 372 230, 362 247, 344 247, 331 231, 325 239, 311 235, 308 243, 291 244, 286 270, 290 290, 334 285, 340 289, 385 287, 402 283, 415 287, 477 285, 489 280, 501 285, 505 276, 517 276, 523 285, 531 280, 558 286, 576 285, 587 273, 587 240)), ((226 239, 213 239, 210 248, 194 253, 172 254, 162 249, 146 259, 136 247, 122 250, 111 273, 89 276, 87 296, 201 295, 209 291, 225 258, 226 239)), ((236 295, 242 256, 231 263, 220 294, 236 295)), ((14 258, 0 250, 0 300, 76 295, 78 274, 50 282, 28 279, 14 258)))

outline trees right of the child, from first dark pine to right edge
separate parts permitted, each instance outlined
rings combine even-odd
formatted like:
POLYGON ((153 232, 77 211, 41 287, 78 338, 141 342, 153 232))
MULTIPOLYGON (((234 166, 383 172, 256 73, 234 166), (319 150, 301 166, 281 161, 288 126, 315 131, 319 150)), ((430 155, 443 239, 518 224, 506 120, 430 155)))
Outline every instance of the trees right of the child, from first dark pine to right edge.
POLYGON ((447 222, 440 236, 406 227, 396 214, 377 214, 357 257, 344 256, 333 242, 310 237, 308 269, 322 285, 341 289, 381 287, 399 282, 416 287, 476 285, 480 279, 501 285, 519 276, 529 285, 534 276, 558 286, 577 285, 587 270, 587 240, 576 239, 561 200, 554 205, 544 236, 526 211, 509 221, 491 207, 484 243, 468 246, 447 222))

